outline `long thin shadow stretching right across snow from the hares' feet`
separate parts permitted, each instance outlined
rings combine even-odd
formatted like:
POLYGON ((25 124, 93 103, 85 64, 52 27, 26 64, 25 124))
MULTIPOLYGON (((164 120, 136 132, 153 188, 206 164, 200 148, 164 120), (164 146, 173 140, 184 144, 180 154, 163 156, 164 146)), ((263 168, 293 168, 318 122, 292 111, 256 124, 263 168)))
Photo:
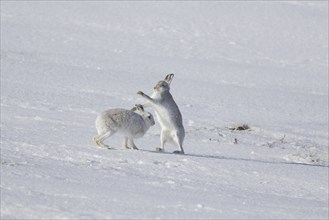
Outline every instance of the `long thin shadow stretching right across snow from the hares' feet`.
POLYGON ((286 164, 286 165, 299 165, 299 166, 313 166, 313 167, 329 167, 321 164, 308 164, 308 163, 294 163, 294 162, 285 162, 285 161, 266 161, 266 160, 257 160, 257 159, 247 159, 247 158, 236 158, 236 157, 225 157, 225 156, 216 156, 216 155, 206 155, 206 154, 175 154, 170 152, 156 152, 151 150, 140 150, 144 152, 150 152, 155 154, 166 154, 171 156, 178 157, 194 157, 194 158, 204 158, 204 159, 214 159, 214 160, 231 160, 231 161, 245 161, 253 163, 264 163, 264 164, 286 164))

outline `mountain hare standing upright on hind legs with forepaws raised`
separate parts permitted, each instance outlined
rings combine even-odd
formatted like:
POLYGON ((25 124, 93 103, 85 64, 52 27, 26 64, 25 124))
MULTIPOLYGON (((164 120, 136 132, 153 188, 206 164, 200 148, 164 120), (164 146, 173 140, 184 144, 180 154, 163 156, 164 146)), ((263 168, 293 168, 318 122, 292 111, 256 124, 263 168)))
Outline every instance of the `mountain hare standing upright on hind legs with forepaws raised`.
POLYGON ((164 80, 159 81, 150 96, 143 92, 137 92, 138 95, 148 100, 145 107, 153 107, 155 114, 161 126, 161 147, 157 148, 157 151, 164 151, 164 144, 166 142, 172 143, 179 147, 180 150, 174 151, 174 153, 182 153, 183 141, 185 137, 185 130, 183 126, 182 115, 178 109, 176 102, 170 94, 170 83, 174 78, 174 74, 168 74, 164 80))

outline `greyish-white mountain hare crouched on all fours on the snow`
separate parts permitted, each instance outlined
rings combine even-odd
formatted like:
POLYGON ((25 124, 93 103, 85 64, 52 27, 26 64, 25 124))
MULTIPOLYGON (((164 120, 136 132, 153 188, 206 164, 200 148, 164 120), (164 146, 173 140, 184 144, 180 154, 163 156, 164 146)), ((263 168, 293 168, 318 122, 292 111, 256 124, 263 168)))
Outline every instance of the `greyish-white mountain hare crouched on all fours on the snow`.
POLYGON ((103 141, 115 133, 120 133, 124 136, 123 147, 138 150, 133 139, 143 137, 155 122, 151 113, 144 111, 142 105, 136 105, 131 110, 117 108, 104 111, 96 118, 95 124, 98 133, 94 137, 96 145, 111 149, 103 144, 103 141))

